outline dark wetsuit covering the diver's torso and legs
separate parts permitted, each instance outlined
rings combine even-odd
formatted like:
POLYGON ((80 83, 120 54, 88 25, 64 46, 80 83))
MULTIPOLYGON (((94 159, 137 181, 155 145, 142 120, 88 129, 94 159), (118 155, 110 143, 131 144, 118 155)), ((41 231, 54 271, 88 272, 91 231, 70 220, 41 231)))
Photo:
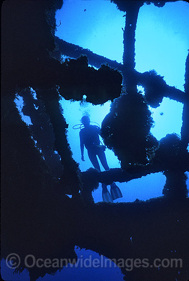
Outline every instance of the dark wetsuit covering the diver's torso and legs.
POLYGON ((105 153, 101 147, 97 147, 100 145, 99 139, 100 129, 97 126, 89 125, 79 132, 80 137, 80 144, 85 145, 89 159, 93 164, 94 168, 100 171, 100 166, 98 163, 97 155, 100 159, 100 162, 105 171, 110 170, 109 166, 107 165, 105 153))

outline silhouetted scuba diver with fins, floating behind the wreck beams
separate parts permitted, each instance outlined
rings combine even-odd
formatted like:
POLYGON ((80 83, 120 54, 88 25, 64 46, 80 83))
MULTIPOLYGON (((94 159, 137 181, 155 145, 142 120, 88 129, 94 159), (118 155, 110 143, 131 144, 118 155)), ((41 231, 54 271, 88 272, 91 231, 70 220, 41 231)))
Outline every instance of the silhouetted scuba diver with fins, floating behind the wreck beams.
MULTIPOLYGON (((107 165, 107 160, 105 157, 104 149, 105 146, 100 145, 100 128, 96 125, 90 125, 90 118, 87 115, 84 115, 81 119, 82 124, 84 125, 83 129, 80 129, 79 138, 80 138, 80 151, 82 154, 82 161, 84 160, 84 145, 87 149, 89 159, 94 166, 94 168, 100 171, 99 162, 97 159, 100 159, 100 162, 105 171, 110 170, 107 165)), ((112 202, 117 198, 121 198, 122 193, 118 186, 113 182, 111 184, 111 194, 107 190, 107 185, 102 183, 102 199, 105 202, 112 202)))

